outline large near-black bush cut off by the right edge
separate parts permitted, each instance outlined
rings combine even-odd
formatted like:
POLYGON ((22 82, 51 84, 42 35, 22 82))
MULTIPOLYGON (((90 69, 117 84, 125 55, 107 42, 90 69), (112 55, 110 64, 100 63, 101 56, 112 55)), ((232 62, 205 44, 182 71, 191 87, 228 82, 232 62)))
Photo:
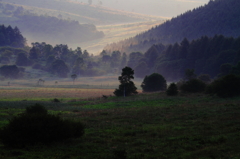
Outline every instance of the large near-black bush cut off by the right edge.
POLYGON ((208 94, 216 94, 219 97, 227 98, 240 95, 240 77, 227 75, 212 82, 206 90, 208 94))

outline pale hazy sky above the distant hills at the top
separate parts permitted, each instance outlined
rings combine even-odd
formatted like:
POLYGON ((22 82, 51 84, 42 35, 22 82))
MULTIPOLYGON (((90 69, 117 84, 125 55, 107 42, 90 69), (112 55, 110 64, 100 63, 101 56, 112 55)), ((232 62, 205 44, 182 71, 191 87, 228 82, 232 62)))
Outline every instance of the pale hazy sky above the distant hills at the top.
MULTIPOLYGON (((88 0, 77 1, 88 3, 88 0)), ((163 17, 175 17, 209 2, 209 0, 92 0, 92 4, 100 4, 100 1, 104 7, 163 17)))

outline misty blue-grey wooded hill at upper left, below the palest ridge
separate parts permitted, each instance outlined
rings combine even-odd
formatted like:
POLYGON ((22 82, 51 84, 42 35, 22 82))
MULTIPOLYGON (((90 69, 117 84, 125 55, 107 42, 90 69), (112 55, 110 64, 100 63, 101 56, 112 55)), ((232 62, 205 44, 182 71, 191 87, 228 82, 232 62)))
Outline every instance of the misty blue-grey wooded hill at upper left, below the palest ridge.
POLYGON ((79 24, 74 20, 37 15, 21 6, 2 4, 0 11, 1 24, 17 26, 31 41, 66 44, 86 42, 104 36, 93 24, 79 24))

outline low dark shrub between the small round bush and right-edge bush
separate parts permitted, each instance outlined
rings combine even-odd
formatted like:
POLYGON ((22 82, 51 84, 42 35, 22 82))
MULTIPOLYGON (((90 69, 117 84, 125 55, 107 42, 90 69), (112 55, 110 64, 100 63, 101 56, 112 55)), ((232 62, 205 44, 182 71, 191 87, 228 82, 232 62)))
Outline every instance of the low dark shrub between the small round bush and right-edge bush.
POLYGON ((190 79, 187 82, 184 82, 180 86, 180 90, 183 92, 197 93, 203 92, 206 88, 206 84, 198 79, 190 79))

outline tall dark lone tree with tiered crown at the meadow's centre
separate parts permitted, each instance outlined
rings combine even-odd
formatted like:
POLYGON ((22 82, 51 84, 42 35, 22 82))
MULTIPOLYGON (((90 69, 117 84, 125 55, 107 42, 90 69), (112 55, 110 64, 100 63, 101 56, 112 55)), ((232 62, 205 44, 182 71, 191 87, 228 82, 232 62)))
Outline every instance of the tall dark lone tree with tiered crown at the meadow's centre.
POLYGON ((120 82, 119 88, 113 93, 116 96, 129 96, 131 94, 137 94, 137 88, 131 79, 134 79, 134 70, 130 67, 125 67, 122 69, 121 76, 118 77, 120 82))

